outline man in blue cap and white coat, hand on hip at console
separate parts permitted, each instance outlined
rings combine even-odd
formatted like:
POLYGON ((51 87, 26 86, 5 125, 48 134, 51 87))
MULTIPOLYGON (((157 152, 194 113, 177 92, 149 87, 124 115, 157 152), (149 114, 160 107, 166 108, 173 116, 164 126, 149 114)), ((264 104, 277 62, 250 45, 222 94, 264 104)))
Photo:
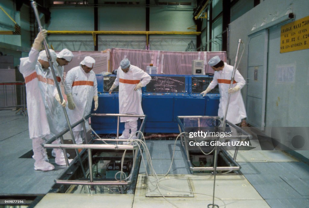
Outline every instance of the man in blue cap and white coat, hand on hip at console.
MULTIPOLYGON (((130 65, 128 59, 120 62, 117 76, 111 93, 119 85, 119 113, 143 115, 142 110, 142 90, 151 80, 149 74, 137 66, 130 65)), ((120 139, 136 139, 138 117, 120 117, 120 122, 125 122, 125 130, 120 139), (131 130, 131 133, 130 133, 131 130)))

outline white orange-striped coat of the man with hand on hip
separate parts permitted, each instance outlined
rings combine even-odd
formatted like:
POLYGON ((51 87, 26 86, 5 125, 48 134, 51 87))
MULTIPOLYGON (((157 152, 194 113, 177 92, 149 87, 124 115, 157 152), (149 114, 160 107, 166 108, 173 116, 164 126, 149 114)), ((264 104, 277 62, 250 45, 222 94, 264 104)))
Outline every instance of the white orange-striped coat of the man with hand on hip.
MULTIPOLYGON (((119 113, 143 115, 142 89, 134 91, 134 87, 140 82, 145 87, 151 80, 149 74, 137 66, 130 65, 127 73, 117 70, 114 85, 119 85, 119 113)), ((138 117, 120 117, 120 122, 136 121, 138 117)))

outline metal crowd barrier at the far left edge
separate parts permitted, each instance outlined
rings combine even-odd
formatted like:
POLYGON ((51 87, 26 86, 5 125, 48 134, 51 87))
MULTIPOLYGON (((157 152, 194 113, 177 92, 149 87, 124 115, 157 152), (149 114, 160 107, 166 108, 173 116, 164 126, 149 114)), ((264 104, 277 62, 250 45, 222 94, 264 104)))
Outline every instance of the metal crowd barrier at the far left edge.
POLYGON ((0 82, 0 109, 17 108, 26 113, 26 93, 24 82, 0 82))

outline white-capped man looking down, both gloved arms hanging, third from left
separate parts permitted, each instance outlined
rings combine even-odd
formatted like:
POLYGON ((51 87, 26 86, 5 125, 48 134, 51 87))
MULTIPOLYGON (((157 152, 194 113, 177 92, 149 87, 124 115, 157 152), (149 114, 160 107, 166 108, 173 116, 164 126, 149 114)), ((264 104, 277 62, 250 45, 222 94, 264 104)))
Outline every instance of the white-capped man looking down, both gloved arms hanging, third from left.
MULTIPOLYGON (((98 84, 95 73, 92 68, 95 60, 86 56, 79 66, 68 71, 66 75, 66 96, 68 100, 68 116, 70 123, 81 120, 91 111, 92 99, 94 100, 96 110, 98 108, 98 84)), ((85 122, 86 129, 89 128, 88 122, 85 122)), ((82 124, 73 129, 74 138, 77 144, 82 144, 85 139, 82 124)))

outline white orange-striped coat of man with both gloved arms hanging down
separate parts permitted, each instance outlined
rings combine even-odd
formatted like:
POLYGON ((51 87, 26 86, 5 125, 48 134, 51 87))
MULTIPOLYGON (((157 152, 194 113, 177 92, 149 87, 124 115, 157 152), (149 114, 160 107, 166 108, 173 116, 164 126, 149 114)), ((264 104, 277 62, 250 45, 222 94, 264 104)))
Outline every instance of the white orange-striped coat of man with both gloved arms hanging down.
MULTIPOLYGON (((81 64, 68 71, 66 75, 66 93, 72 93, 75 109, 68 109, 71 125, 87 116, 91 111, 93 96, 98 95, 98 84, 95 73, 91 70, 85 73, 81 64)), ((86 129, 89 128, 86 122, 86 129)), ((82 125, 74 127, 73 131, 83 130, 82 125)))

